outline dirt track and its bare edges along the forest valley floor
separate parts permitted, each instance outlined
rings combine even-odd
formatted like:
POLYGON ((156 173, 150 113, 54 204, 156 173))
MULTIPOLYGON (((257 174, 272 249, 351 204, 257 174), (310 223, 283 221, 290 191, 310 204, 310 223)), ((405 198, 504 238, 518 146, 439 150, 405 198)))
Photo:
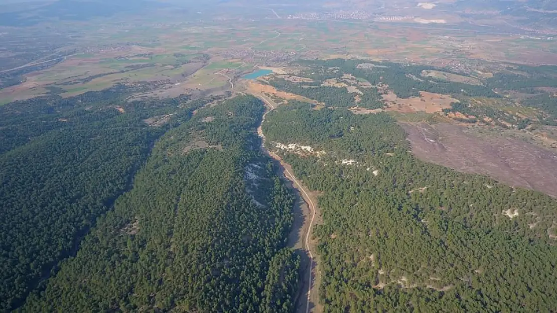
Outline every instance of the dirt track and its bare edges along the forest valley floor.
POLYGON ((313 242, 311 242, 311 231, 312 231, 312 227, 315 224, 315 218, 317 216, 317 207, 314 204, 314 200, 312 200, 311 193, 307 191, 306 188, 302 186, 301 183, 294 176, 290 165, 282 161, 281 157, 279 157, 278 155, 276 155, 271 151, 268 151, 265 148, 264 145, 265 135, 263 134, 262 125, 263 122, 265 122, 265 117, 267 116, 267 113, 274 110, 276 104, 268 100, 267 97, 263 95, 253 94, 253 96, 258 97, 263 102, 265 102, 269 109, 265 112, 265 114, 263 114, 261 125, 257 128, 257 134, 262 139, 261 149, 266 155, 270 156, 280 164, 280 168, 282 173, 284 174, 284 177, 291 182, 291 187, 297 191, 299 197, 301 197, 301 200, 303 200, 307 205, 306 212, 303 212, 304 211, 302 208, 303 204, 297 203, 295 208, 295 217, 302 218, 303 222, 299 223, 298 221, 295 221, 295 226, 296 224, 298 224, 298 226, 293 227, 292 233, 289 236, 289 246, 291 246, 294 249, 299 248, 296 250, 296 252, 298 252, 298 254, 302 259, 301 260, 302 277, 300 281, 300 293, 296 301, 296 312, 309 313, 310 309, 315 309, 312 311, 320 311, 319 303, 318 303, 319 299, 317 296, 318 284, 314 283, 314 281, 316 280, 316 275, 314 271, 316 269, 317 262, 314 257, 314 254, 312 253, 312 250, 315 249, 315 245, 313 242), (302 232, 302 235, 300 235, 300 231, 302 232), (304 238, 303 241, 301 241, 302 238, 304 238), (300 242, 302 244, 301 247, 300 247, 300 242), (304 253, 300 253, 301 250, 303 250, 304 253), (306 294, 307 299, 304 299, 304 297, 302 296, 303 290, 307 290, 307 294, 306 294))

